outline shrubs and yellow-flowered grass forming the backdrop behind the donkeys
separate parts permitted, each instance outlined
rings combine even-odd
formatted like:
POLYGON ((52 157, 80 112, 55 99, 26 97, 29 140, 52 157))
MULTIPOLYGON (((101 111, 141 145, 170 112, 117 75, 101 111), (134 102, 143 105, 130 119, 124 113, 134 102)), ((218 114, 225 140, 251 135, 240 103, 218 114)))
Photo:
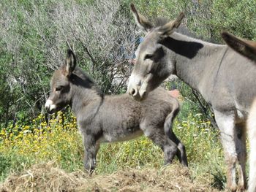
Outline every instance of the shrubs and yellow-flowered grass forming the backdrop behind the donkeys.
MULTIPOLYGON (((43 106, 53 70, 67 47, 78 64, 108 94, 124 93, 132 69, 129 62, 143 34, 129 11, 132 1, 18 0, 0 1, 0 180, 10 171, 54 161, 72 172, 83 169, 83 147, 69 109, 56 117, 43 106)), ((163 0, 133 1, 153 20, 176 18, 184 11, 184 25, 197 37, 223 43, 221 31, 256 40, 256 1, 163 0)), ((193 177, 208 172, 211 184, 225 187, 225 169, 218 130, 200 95, 176 80, 166 82, 181 91, 181 112, 175 131, 187 147, 193 177), (210 123, 211 122, 211 123, 210 123)), ((162 166, 162 153, 148 139, 103 145, 97 173, 129 167, 162 166)))

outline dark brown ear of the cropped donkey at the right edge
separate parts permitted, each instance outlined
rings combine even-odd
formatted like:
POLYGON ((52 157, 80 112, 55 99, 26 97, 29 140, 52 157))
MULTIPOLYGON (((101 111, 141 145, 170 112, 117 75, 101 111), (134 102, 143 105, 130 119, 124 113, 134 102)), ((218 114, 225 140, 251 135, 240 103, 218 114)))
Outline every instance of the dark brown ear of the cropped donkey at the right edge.
POLYGON ((256 62, 256 42, 240 39, 228 32, 222 32, 222 39, 233 50, 256 62))

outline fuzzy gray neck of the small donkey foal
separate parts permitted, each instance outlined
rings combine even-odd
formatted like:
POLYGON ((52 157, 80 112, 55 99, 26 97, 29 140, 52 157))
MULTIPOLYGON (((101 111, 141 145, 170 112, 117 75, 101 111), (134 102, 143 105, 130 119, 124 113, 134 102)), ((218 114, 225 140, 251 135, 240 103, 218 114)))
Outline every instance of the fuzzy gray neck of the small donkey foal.
POLYGON ((86 118, 94 117, 103 101, 103 95, 99 89, 89 81, 80 83, 74 80, 71 82, 71 90, 70 105, 75 116, 78 119, 85 116, 86 118))

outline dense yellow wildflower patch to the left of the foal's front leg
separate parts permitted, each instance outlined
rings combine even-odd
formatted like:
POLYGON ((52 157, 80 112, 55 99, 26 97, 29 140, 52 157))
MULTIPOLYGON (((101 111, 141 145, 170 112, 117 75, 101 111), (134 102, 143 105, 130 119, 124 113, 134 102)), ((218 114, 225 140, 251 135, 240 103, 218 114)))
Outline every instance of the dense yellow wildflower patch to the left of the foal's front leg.
POLYGON ((77 131, 76 118, 67 117, 62 112, 45 120, 39 115, 28 126, 10 126, 0 132, 0 153, 26 158, 34 158, 34 162, 61 161, 66 153, 78 149, 80 136, 77 131))

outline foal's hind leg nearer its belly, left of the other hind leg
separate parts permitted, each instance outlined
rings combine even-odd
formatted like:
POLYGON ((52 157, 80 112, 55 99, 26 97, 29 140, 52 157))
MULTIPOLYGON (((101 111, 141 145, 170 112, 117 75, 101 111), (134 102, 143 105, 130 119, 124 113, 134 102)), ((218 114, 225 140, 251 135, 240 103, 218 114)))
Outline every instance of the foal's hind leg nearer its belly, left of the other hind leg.
POLYGON ((178 153, 178 147, 175 142, 171 141, 165 135, 164 130, 159 128, 147 128, 146 131, 144 131, 144 134, 165 153, 165 165, 171 164, 173 162, 173 158, 178 153))

